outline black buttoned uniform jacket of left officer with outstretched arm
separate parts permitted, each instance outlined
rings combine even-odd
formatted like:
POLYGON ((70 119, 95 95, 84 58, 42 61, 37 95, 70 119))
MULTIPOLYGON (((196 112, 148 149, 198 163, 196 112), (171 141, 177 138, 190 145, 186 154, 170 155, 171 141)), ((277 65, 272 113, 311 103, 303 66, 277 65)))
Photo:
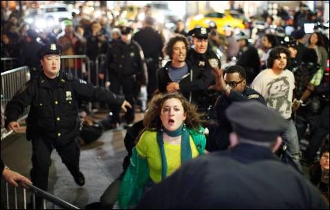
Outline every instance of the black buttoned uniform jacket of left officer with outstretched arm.
POLYGON ((51 86, 44 74, 24 84, 6 106, 6 126, 17 121, 30 105, 27 139, 40 134, 44 140, 64 145, 79 134, 77 97, 89 101, 109 102, 121 106, 124 99, 109 90, 93 86, 73 75, 59 71, 58 82, 51 86))

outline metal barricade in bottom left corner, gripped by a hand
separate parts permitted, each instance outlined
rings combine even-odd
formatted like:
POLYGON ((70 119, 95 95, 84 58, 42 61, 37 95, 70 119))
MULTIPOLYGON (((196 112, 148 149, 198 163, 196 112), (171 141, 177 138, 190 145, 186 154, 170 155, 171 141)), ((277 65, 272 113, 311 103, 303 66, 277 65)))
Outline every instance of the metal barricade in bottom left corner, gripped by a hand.
POLYGON ((51 202, 53 204, 53 207, 51 209, 55 209, 55 206, 63 208, 63 209, 80 209, 78 207, 75 207, 73 204, 70 204, 60 198, 57 198, 55 195, 48 193, 46 191, 43 191, 42 189, 39 189, 35 187, 34 185, 25 183, 26 187, 24 187, 21 183, 19 183, 19 187, 9 187, 9 184, 6 182, 6 209, 27 209, 26 200, 28 198, 28 194, 31 194, 32 201, 31 201, 31 207, 32 209, 35 209, 35 196, 39 196, 42 198, 42 208, 46 209, 46 200, 48 202, 51 202), (12 189, 12 191, 9 191, 9 189, 12 189), (22 189, 22 191, 17 191, 17 189, 22 189), (29 191, 30 193, 26 193, 26 191, 29 191), (13 198, 12 198, 13 197, 13 198), (10 199, 12 198, 12 199, 10 199), (21 198, 21 199, 20 199, 21 198))

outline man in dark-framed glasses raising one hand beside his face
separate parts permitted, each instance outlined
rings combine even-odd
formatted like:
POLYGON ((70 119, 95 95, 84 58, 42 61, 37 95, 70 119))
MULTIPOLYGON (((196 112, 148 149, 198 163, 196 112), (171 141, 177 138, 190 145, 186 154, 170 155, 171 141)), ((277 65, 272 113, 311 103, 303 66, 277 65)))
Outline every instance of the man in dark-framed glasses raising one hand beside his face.
POLYGON ((232 126, 228 122, 225 111, 232 102, 243 102, 255 99, 265 104, 265 99, 257 91, 246 85, 246 70, 241 66, 230 66, 223 73, 218 67, 213 68, 216 77, 214 88, 223 92, 215 104, 217 111, 217 124, 210 126, 209 141, 206 145, 208 151, 225 150, 229 146, 229 133, 232 126))

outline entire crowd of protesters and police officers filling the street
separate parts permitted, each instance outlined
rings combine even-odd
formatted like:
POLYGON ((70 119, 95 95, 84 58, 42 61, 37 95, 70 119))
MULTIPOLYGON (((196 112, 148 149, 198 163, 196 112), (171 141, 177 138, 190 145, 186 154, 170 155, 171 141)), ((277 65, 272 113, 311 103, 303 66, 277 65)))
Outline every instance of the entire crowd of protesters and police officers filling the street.
MULTIPOLYGON (((226 26, 221 35, 214 24, 186 32, 180 20, 163 37, 153 17, 137 29, 73 14, 55 35, 19 26, 12 13, 1 24, 1 57, 19 57, 33 76, 7 104, 6 128, 17 131, 30 105, 33 184, 47 190, 55 148, 82 186, 79 99, 109 103, 107 120, 127 124, 128 155, 102 207, 329 209, 329 26, 317 21, 318 12, 301 4, 292 17, 283 8, 276 19, 266 15, 262 29, 250 17, 238 34, 226 26), (314 31, 304 23, 315 23, 314 31), (91 77, 66 73, 81 64, 63 66, 61 55, 87 55, 91 77), (99 55, 105 60, 96 72, 99 55), (109 90, 98 86, 105 79, 109 90), (135 122, 143 88, 149 104, 135 122)), ((4 167, 3 177, 15 180, 4 167)))

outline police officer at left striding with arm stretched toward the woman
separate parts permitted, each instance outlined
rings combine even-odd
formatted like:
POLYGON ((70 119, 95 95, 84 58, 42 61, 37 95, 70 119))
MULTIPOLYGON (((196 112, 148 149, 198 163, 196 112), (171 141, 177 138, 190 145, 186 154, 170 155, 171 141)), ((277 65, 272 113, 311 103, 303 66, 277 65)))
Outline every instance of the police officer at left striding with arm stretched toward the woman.
MULTIPOLYGON (((51 152, 56 149, 75 182, 82 186, 84 175, 79 169, 80 149, 77 142, 80 122, 77 97, 117 104, 126 110, 127 101, 104 88, 93 86, 82 79, 64 73, 60 68, 61 48, 56 44, 39 50, 43 72, 15 94, 6 106, 6 127, 19 130, 17 121, 24 108, 30 105, 26 137, 32 140, 33 169, 30 171, 35 186, 47 190, 51 152)), ((37 205, 41 200, 37 199, 37 205)))

